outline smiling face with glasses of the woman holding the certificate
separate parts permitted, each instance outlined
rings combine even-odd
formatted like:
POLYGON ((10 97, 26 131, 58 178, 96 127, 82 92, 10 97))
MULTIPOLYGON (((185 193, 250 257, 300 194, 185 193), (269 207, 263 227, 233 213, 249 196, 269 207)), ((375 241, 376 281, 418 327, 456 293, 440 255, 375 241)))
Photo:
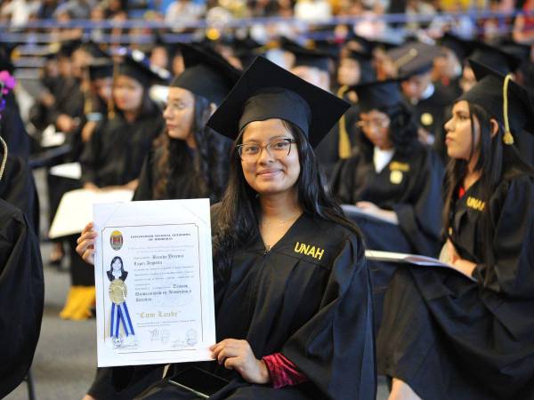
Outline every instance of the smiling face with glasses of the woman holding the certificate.
MULTIPOLYGON (((267 146, 273 140, 291 139, 295 136, 288 132, 280 119, 267 119, 247 124, 243 132, 243 144, 267 146)), ((300 175, 299 155, 296 143, 292 143, 287 154, 262 148, 256 159, 241 159, 243 174, 248 185, 260 196, 275 195, 296 190, 300 175)))

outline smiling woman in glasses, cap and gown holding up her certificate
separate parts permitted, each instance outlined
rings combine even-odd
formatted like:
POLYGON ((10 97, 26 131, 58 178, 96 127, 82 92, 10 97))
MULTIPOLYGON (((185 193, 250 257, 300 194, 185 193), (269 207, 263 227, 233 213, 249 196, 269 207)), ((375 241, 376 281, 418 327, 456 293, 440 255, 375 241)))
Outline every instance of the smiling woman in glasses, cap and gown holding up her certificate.
MULTIPOLYGON (((212 208, 218 363, 193 363, 229 381, 212 399, 376 396, 362 240, 325 192, 312 150, 346 108, 260 57, 208 121, 235 140, 228 188, 212 208)), ((88 262, 94 237, 86 228, 79 238, 88 262)), ((113 398, 149 373, 113 368, 113 398)), ((198 398, 166 380, 142 397, 198 398)))

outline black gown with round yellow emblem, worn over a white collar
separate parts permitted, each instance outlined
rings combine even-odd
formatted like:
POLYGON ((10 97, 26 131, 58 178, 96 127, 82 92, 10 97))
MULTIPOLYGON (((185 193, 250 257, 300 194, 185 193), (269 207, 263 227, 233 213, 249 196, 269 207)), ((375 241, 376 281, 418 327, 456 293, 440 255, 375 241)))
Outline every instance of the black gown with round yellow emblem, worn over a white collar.
POLYGON ((399 218, 399 226, 356 220, 369 249, 437 256, 443 166, 432 150, 415 142, 409 156, 395 153, 379 173, 372 159, 356 151, 337 168, 333 190, 341 203, 371 202, 399 218))

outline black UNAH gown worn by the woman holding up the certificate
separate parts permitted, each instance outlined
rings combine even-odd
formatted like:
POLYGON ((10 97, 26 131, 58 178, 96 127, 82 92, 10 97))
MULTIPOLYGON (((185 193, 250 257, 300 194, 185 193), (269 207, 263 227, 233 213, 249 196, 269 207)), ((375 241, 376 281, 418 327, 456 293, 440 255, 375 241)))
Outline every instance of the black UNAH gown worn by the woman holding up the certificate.
MULTIPOLYGON (((310 381, 274 389, 248 384, 214 362, 194 363, 231 380, 211 399, 375 399, 368 268, 362 244, 348 229, 303 214, 270 252, 259 236, 235 252, 230 276, 214 294, 217 340, 247 340, 257 358, 281 352, 310 381)), ((174 372, 187 366, 175 364, 174 372)), ((113 368, 108 383, 127 390, 153 378, 154 367, 113 368)), ((164 398, 189 396, 177 388, 164 390, 164 398)))

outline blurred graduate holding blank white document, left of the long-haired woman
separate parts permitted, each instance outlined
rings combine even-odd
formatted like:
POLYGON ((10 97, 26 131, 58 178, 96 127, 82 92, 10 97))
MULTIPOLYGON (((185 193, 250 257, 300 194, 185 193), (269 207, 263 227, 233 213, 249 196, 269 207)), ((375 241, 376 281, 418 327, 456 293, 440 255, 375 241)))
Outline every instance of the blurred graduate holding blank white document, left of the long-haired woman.
MULTIPOLYGON (((149 97, 150 84, 161 76, 128 53, 116 68, 111 116, 95 128, 80 158, 84 188, 135 189, 151 143, 163 130, 161 111, 149 97)), ((73 320, 90 317, 94 304, 94 274, 77 257, 76 239, 69 237, 72 286, 60 314, 73 320)))

